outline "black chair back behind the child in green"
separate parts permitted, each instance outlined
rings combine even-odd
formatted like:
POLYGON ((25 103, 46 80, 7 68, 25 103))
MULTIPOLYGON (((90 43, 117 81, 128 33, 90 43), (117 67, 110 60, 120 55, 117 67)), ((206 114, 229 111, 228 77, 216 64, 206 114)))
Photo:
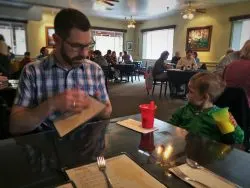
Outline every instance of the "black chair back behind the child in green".
POLYGON ((216 100, 215 105, 221 108, 229 108, 229 111, 245 133, 244 146, 245 150, 249 151, 250 110, 245 91, 242 88, 227 87, 216 100))

